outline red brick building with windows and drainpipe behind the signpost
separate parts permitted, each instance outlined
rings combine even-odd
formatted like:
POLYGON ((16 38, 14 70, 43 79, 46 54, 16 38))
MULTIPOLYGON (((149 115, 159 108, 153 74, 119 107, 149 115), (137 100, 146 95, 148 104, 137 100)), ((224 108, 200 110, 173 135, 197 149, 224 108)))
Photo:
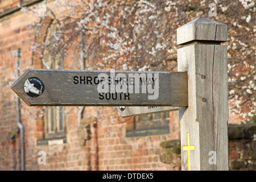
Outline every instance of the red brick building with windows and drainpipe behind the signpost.
MULTIPOLYGON (((20 12, 34 3, 40 1, 0 1, 0 170, 21 167, 19 112, 26 170, 180 170, 159 157, 160 143, 179 139, 177 111, 121 118, 115 107, 28 107, 23 101, 19 107, 10 89, 17 73, 46 68, 40 53, 30 50, 32 42, 47 40, 49 27, 40 27, 44 36, 36 36, 26 25, 35 17, 20 12)), ((81 69, 79 56, 71 47, 51 68, 81 69)))

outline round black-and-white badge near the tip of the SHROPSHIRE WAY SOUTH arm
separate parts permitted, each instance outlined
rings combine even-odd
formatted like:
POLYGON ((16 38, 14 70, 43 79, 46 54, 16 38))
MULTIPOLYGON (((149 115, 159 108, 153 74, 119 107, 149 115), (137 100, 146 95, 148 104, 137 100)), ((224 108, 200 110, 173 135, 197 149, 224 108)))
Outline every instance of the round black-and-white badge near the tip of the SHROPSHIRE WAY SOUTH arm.
POLYGON ((43 81, 37 77, 30 77, 24 83, 24 91, 30 97, 38 97, 44 92, 43 81))

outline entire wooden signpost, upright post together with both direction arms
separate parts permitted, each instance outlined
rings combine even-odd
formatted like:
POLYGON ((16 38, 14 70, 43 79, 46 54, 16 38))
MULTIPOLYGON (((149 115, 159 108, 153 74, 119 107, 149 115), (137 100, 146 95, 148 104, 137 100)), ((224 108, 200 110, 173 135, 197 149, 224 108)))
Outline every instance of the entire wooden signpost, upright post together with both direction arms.
POLYGON ((177 29, 179 72, 28 69, 11 88, 29 106, 117 106, 122 117, 177 110, 182 170, 228 170, 226 25, 177 29))

